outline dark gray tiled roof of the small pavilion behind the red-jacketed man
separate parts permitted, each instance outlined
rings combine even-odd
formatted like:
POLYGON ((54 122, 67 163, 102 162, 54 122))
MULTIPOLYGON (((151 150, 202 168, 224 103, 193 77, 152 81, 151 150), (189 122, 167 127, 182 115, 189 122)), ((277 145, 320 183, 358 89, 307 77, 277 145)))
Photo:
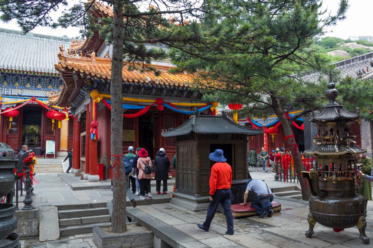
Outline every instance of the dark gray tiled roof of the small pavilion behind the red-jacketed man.
POLYGON ((190 134, 245 134, 248 136, 262 134, 262 130, 251 130, 238 125, 227 116, 194 115, 184 124, 175 129, 162 132, 164 137, 175 137, 190 134))

